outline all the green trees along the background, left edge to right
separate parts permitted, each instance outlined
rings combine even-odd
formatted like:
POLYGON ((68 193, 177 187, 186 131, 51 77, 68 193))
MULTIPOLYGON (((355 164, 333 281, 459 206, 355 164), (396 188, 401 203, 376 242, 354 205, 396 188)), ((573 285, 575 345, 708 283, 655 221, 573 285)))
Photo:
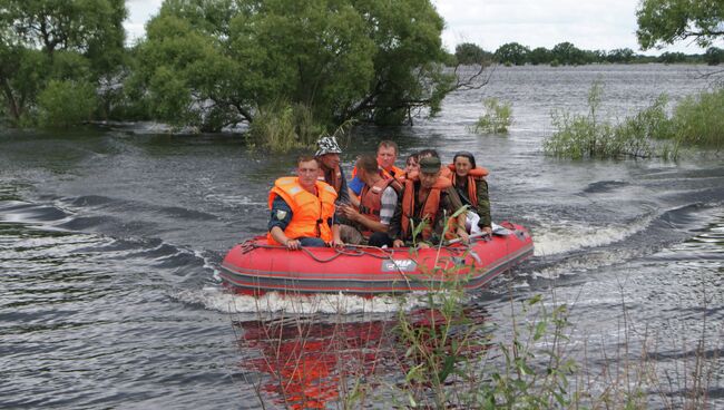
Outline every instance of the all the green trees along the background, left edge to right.
MULTIPOLYGON (((434 115, 449 92, 482 87, 491 60, 643 58, 630 49, 585 51, 570 42, 551 50, 511 42, 495 52, 466 43, 452 55, 442 47, 444 21, 430 0, 165 0, 146 37, 128 47, 125 6, 0 0, 4 123, 154 120, 202 131, 247 124, 262 134, 285 129, 285 138, 299 141, 350 121, 397 125, 418 111, 434 115), (473 62, 478 70, 449 67, 473 62)), ((712 46, 722 37, 724 16, 712 2, 645 0, 638 13, 644 48, 685 38, 712 46)), ((721 49, 710 50, 705 58, 721 60, 721 49)))

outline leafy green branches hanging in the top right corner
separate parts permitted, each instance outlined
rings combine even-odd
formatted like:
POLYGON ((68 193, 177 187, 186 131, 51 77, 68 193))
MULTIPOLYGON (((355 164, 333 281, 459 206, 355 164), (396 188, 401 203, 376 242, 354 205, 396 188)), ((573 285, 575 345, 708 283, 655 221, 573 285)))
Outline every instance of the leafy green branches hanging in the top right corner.
POLYGON ((636 11, 636 36, 644 50, 693 39, 708 47, 724 36, 724 7, 707 0, 644 0, 636 11))

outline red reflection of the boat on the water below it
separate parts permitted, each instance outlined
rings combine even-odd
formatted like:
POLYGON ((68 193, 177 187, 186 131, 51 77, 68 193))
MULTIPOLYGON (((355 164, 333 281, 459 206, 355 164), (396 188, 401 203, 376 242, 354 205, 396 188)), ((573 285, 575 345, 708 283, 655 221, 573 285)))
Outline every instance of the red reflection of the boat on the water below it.
MULTIPOLYGON (((239 330, 241 365, 267 377, 258 389, 292 409, 324 409, 340 396, 384 371, 393 321, 355 322, 344 316, 287 318, 234 322, 239 330)), ((388 369, 390 371, 390 369, 388 369)), ((265 397, 260 397, 265 401, 265 397)))

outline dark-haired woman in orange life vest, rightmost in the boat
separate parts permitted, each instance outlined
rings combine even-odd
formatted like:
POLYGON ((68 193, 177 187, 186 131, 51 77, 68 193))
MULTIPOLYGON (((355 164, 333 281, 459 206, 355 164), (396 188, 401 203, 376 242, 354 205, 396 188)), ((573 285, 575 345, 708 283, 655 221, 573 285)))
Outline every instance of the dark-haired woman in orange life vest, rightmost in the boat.
POLYGON ((468 232, 492 233, 492 219, 490 218, 490 198, 488 196, 488 183, 486 176, 488 169, 476 165, 476 157, 461 150, 452 157, 452 164, 448 166, 452 172, 452 186, 463 205, 468 205, 467 213, 468 232))

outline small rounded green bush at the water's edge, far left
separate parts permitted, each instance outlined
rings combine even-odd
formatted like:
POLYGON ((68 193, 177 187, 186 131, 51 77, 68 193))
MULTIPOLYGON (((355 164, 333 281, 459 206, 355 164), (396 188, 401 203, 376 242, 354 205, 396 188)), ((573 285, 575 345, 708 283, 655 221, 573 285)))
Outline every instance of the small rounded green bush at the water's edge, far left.
POLYGON ((76 126, 90 119, 96 106, 91 84, 53 79, 38 96, 39 121, 52 128, 76 126))

